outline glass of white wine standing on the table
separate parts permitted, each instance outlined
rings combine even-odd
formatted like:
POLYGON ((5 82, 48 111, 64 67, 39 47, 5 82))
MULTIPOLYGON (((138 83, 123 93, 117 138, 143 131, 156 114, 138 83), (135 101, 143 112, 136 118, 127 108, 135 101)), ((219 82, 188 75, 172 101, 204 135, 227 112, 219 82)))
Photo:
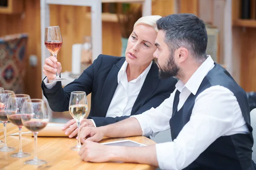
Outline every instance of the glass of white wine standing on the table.
POLYGON ((70 95, 70 103, 69 103, 69 112, 70 115, 77 122, 78 129, 78 140, 77 144, 74 147, 71 147, 71 150, 80 150, 81 142, 80 142, 80 122, 82 119, 87 118, 88 104, 87 97, 84 91, 73 91, 70 95))

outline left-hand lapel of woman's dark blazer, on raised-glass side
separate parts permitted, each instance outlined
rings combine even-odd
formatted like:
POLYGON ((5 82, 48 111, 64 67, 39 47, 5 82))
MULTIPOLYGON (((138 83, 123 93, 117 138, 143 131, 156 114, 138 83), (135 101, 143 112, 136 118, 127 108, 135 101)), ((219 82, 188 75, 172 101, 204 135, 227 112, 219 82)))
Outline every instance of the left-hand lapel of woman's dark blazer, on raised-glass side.
POLYGON ((102 88, 102 94, 100 97, 100 106, 99 111, 97 112, 98 117, 105 117, 113 98, 113 95, 116 91, 116 87, 118 85, 117 82, 117 74, 125 62, 125 58, 122 58, 111 68, 111 71, 108 74, 108 77, 105 80, 105 83, 102 88))

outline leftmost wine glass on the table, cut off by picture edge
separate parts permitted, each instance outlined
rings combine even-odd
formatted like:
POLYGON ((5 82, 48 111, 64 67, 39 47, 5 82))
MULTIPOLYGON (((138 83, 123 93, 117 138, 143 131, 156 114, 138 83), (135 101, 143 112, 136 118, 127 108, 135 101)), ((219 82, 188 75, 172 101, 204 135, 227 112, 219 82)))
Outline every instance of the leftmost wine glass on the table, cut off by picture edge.
POLYGON ((0 147, 0 152, 10 152, 15 150, 14 147, 8 147, 6 143, 6 123, 8 122, 7 113, 6 113, 6 104, 9 97, 14 96, 13 91, 0 91, 0 120, 3 122, 3 134, 4 134, 4 146, 0 147))

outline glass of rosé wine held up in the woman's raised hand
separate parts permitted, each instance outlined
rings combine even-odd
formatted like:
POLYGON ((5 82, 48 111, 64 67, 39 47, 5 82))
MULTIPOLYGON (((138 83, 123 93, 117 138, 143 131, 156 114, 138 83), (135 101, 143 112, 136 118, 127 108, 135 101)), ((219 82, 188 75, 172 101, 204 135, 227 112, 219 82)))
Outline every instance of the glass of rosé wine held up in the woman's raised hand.
MULTIPOLYGON (((57 58, 58 51, 62 46, 61 30, 59 26, 45 28, 44 45, 48 51, 52 53, 53 57, 57 58)), ((56 82, 61 80, 64 80, 64 78, 60 78, 56 72, 56 78, 51 81, 56 82)))

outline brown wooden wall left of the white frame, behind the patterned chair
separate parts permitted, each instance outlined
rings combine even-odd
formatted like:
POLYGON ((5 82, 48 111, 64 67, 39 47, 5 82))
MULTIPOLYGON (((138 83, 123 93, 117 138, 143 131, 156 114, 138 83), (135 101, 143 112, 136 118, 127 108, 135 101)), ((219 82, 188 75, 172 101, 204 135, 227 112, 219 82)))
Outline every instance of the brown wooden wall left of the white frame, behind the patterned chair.
POLYGON ((26 0, 24 6, 26 8, 24 15, 0 14, 0 23, 2 23, 0 36, 23 32, 29 34, 26 48, 27 63, 29 63, 29 55, 34 54, 38 57, 38 65, 33 68, 27 64, 27 73, 24 78, 25 93, 31 98, 41 98, 40 1, 26 0))

